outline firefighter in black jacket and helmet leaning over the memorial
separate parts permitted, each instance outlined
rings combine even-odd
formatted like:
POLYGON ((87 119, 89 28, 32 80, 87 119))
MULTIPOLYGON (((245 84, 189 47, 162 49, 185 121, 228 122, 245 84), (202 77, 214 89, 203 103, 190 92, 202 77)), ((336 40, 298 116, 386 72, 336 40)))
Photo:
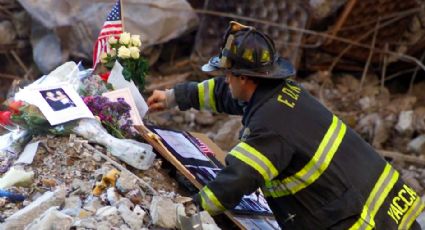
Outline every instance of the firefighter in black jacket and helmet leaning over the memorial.
POLYGON ((424 203, 388 162, 299 84, 273 41, 230 22, 202 70, 223 75, 148 98, 151 111, 195 108, 242 115, 226 167, 195 195, 210 214, 261 188, 283 229, 420 229, 424 203))

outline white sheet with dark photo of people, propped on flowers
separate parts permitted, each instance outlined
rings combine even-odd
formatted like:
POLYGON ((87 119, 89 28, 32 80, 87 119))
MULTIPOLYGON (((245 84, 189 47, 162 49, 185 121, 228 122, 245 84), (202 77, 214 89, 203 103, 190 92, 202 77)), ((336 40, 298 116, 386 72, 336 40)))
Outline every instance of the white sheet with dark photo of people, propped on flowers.
POLYGON ((31 97, 32 104, 40 109, 51 125, 79 118, 94 118, 83 99, 69 83, 31 89, 25 97, 31 97))

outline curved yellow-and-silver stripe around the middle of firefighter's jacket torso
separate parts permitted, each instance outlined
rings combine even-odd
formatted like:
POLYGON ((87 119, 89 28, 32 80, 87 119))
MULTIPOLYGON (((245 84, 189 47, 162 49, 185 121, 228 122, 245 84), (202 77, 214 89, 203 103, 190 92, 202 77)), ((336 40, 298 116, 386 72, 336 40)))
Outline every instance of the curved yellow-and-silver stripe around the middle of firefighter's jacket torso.
POLYGON ((314 183, 328 168, 347 127, 335 115, 324 138, 310 161, 297 173, 281 181, 267 182, 265 188, 273 197, 295 194, 314 183))

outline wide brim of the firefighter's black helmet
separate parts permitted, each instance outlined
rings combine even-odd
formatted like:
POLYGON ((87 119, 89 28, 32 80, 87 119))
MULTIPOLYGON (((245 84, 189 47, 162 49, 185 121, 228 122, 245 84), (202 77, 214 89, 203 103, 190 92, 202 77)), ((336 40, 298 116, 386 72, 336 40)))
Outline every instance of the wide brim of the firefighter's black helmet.
MULTIPOLYGON (((220 67, 220 58, 218 55, 212 57, 207 64, 202 66, 201 70, 212 76, 225 74, 225 69, 220 67)), ((278 57, 272 66, 267 66, 260 69, 231 67, 227 70, 237 75, 267 79, 285 79, 296 74, 294 66, 288 60, 282 57, 278 57)))

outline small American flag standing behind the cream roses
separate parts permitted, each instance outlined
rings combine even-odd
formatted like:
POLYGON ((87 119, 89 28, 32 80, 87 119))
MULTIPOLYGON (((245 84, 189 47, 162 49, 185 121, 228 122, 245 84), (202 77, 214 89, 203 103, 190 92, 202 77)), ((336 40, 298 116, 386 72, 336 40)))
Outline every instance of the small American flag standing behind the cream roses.
POLYGON ((109 12, 99 36, 97 37, 96 44, 93 49, 93 68, 99 62, 99 57, 102 52, 108 51, 108 39, 111 35, 119 35, 123 32, 123 21, 121 16, 121 0, 118 0, 109 12))

